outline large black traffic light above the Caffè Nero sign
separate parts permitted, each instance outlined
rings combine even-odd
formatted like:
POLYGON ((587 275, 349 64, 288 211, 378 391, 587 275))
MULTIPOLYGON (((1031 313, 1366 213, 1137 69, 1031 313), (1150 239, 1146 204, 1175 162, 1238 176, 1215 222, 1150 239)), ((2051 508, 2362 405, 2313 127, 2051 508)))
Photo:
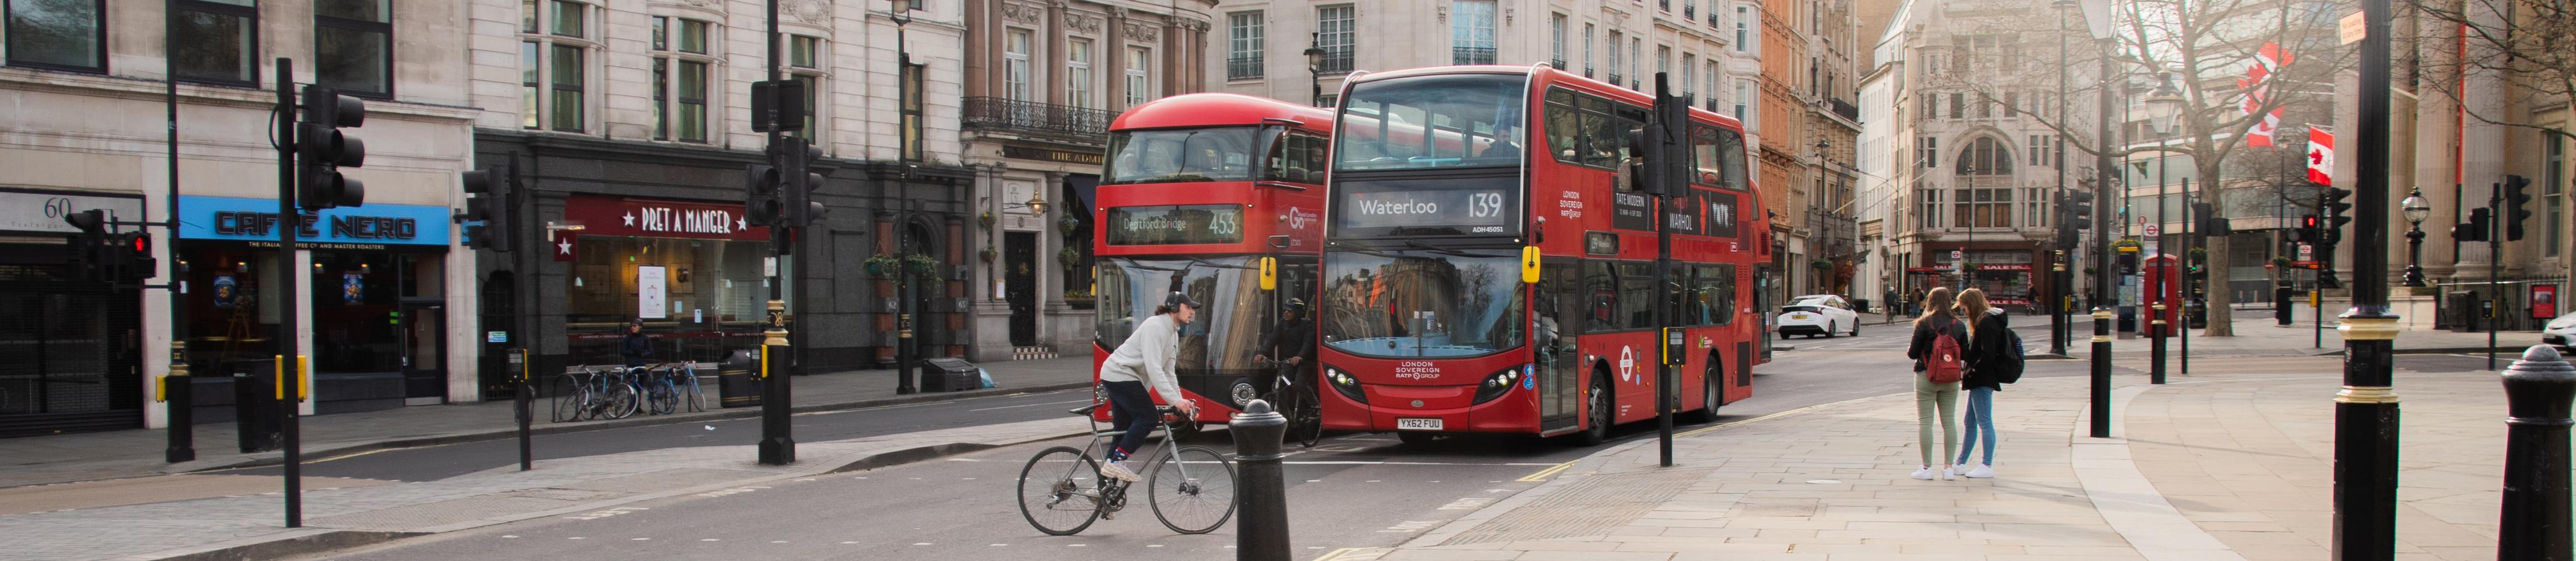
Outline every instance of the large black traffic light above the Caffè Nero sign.
POLYGON ((366 142, 340 129, 366 124, 366 103, 332 87, 304 87, 304 121, 296 124, 296 203, 319 211, 366 203, 366 185, 340 175, 340 167, 366 165, 366 142))

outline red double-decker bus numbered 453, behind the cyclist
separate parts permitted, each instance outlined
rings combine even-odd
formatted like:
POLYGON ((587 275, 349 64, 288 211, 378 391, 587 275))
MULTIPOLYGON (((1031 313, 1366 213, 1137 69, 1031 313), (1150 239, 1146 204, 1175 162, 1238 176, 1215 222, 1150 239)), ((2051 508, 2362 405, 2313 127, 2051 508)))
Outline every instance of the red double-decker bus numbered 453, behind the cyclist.
POLYGON ((1110 124, 1092 214, 1095 381, 1164 293, 1188 291, 1206 309, 1182 327, 1175 371, 1198 419, 1226 422, 1267 391, 1257 381, 1273 368, 1252 358, 1288 299, 1316 296, 1329 131, 1332 111, 1231 93, 1151 100, 1110 124))

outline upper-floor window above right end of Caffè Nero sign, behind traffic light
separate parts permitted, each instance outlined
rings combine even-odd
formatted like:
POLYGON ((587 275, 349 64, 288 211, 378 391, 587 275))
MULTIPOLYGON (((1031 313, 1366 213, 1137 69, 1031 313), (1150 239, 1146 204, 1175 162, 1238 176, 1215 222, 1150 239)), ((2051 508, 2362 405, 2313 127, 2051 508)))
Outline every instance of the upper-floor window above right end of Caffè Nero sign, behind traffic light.
POLYGON ((368 98, 394 95, 394 23, 389 3, 314 3, 314 82, 368 98))

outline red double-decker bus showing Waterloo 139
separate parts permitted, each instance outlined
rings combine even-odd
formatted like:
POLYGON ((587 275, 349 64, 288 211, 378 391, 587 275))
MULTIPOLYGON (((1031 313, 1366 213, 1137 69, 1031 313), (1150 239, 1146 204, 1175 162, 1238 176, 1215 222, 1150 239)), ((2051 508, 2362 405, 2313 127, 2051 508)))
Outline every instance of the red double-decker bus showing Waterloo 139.
POLYGON ((1324 427, 1600 443, 1654 417, 1654 214, 1674 232, 1680 409, 1752 396, 1770 226, 1744 129, 1690 111, 1692 185, 1654 208, 1625 139, 1651 103, 1546 64, 1352 77, 1324 188, 1324 427))

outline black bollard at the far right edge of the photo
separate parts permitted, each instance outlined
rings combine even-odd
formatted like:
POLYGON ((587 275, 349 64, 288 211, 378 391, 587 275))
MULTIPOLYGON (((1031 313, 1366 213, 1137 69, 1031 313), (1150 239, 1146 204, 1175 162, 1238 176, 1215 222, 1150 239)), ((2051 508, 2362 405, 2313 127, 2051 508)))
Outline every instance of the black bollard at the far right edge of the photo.
POLYGON ((2504 368, 2504 522, 2496 558, 2571 561, 2568 553, 2568 399, 2576 365, 2550 345, 2522 350, 2504 368))

